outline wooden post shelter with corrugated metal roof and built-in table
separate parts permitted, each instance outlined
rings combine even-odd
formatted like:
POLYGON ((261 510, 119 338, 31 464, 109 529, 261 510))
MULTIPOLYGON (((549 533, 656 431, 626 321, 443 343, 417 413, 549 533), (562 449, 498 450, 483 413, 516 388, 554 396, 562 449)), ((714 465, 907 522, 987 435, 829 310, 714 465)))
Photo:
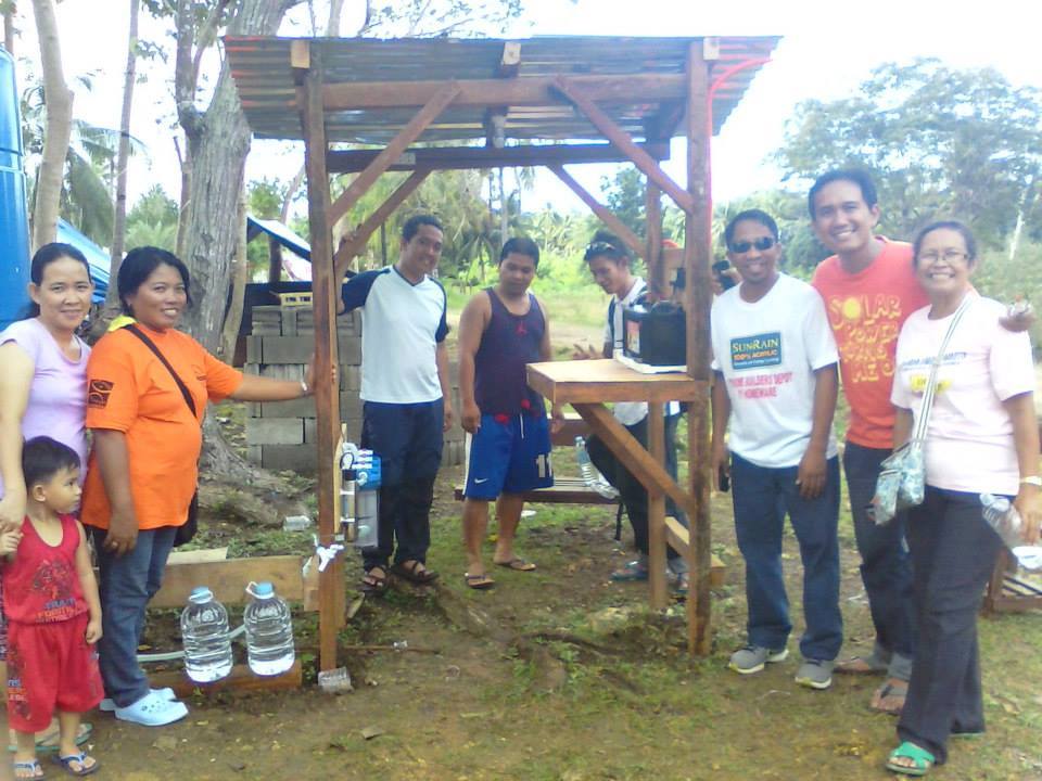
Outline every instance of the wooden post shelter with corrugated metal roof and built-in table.
MULTIPOLYGON (((603 382, 589 383, 587 388, 582 374, 585 370, 573 367, 562 368, 560 383, 530 370, 530 382, 554 400, 575 401, 576 409, 606 436, 606 441, 624 451, 635 464, 635 474, 648 487, 651 500, 652 564, 657 560, 664 564, 669 535, 672 543, 683 546, 692 565, 689 644, 699 653, 708 653, 710 642, 710 484, 706 468, 711 302, 709 140, 738 104, 777 41, 775 37, 225 39, 242 106, 255 136, 305 142, 319 377, 330 376, 329 367, 338 360, 334 319, 340 280, 334 279, 334 261, 357 255, 373 231, 431 171, 546 166, 637 256, 645 258, 652 286, 660 290, 664 282, 662 193, 684 210, 688 376, 641 381, 634 372, 634 376, 620 379, 611 367, 601 367, 601 373, 607 372, 603 382), (669 157, 670 141, 675 136, 686 139, 684 184, 659 165, 669 157), (333 148, 347 143, 365 148, 333 148), (648 225, 643 236, 627 229, 564 168, 569 164, 608 162, 632 163, 647 178, 648 225), (410 176, 334 254, 333 225, 381 175, 402 170, 410 176), (357 176, 333 201, 330 175, 346 172, 357 176), (636 452, 634 441, 625 440, 626 432, 620 435, 611 426, 601 402, 623 399, 650 402, 650 454, 639 447, 640 452, 636 452), (661 468, 662 406, 668 399, 691 401, 686 489, 661 468), (683 528, 664 526, 666 495, 688 511, 689 540, 683 528)), ((339 475, 333 458, 340 436, 339 410, 331 382, 319 383, 315 394, 319 535, 322 545, 330 545, 339 524, 339 475)), ((661 588, 652 588, 652 604, 661 606, 664 599, 662 581, 661 588)), ((335 640, 343 622, 343 561, 338 559, 322 573, 320 584, 322 669, 336 665, 335 640)))

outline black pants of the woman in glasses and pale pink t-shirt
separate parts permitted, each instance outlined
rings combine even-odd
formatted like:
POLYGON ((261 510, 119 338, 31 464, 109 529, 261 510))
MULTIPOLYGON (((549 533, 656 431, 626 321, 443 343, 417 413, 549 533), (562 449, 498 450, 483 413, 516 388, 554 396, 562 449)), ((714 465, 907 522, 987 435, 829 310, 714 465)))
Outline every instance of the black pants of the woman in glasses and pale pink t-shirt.
POLYGON ((978 495, 931 486, 907 535, 919 637, 898 737, 943 763, 949 734, 984 729, 977 612, 1002 541, 978 495))

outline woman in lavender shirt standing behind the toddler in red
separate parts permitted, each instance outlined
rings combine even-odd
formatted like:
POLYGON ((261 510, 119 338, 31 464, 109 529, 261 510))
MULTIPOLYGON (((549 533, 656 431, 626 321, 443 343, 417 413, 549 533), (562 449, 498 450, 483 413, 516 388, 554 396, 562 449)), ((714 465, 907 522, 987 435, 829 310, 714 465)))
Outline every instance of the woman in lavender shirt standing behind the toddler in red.
MULTIPOLYGON (((24 440, 47 435, 68 445, 87 464, 84 421, 90 347, 76 330, 90 309, 90 267, 74 246, 45 244, 33 256, 29 279, 28 317, 0 333, 0 527, 4 528, 21 528, 25 517, 24 440)), ((0 612, 0 671, 5 681, 2 623, 0 612)), ((80 741, 89 730, 89 725, 81 725, 80 741)), ((56 734, 51 725, 38 740, 46 748, 56 734)))

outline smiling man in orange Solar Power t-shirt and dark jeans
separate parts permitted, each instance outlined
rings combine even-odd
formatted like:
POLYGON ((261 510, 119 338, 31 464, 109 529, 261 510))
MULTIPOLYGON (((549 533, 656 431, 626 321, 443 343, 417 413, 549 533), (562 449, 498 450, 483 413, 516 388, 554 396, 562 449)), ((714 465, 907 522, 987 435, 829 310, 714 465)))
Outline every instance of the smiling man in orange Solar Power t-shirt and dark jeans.
POLYGON ((879 465, 893 443, 890 386, 898 334, 907 317, 926 306, 927 297, 913 272, 911 245, 873 232, 879 206, 867 174, 835 170, 823 175, 811 188, 808 206, 818 240, 836 253, 817 267, 812 284, 825 299, 850 405, 843 473, 862 560, 861 578, 876 630, 872 653, 840 663, 836 671, 886 674, 872 707, 899 713, 915 651, 905 520, 902 513, 877 526, 868 507, 879 465))

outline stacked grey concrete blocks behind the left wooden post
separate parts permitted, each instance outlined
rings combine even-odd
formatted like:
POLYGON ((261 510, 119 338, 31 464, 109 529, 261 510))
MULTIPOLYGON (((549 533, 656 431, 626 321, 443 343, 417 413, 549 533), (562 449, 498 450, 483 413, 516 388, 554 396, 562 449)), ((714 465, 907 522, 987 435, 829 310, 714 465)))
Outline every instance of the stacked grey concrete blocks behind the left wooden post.
MULTIPOLYGON (((347 437, 361 437, 361 315, 336 318, 340 351, 340 419, 347 437)), ((302 380, 315 351, 315 319, 309 306, 259 306, 253 308, 252 335, 246 337, 246 371, 280 380, 302 380)), ((463 432, 459 427, 459 392, 456 367, 450 370, 457 421, 445 434, 442 465, 463 461, 463 432)), ((250 404, 246 419, 247 457, 271 470, 313 474, 316 469, 316 420, 314 397, 292 401, 250 404)))

